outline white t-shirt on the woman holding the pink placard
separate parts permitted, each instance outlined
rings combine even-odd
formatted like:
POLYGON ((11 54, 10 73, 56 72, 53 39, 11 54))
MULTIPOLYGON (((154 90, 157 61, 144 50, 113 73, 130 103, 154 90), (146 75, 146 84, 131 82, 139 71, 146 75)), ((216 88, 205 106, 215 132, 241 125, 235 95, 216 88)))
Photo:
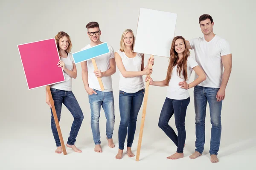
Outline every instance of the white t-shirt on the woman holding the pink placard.
MULTIPOLYGON (((69 53, 67 55, 67 58, 61 57, 61 61, 63 61, 65 63, 65 67, 68 70, 73 71, 74 61, 73 61, 73 57, 72 57, 71 53, 69 53)), ((65 71, 64 71, 64 77, 65 77, 66 81, 51 85, 51 88, 56 88, 56 89, 64 90, 64 91, 71 91, 72 90, 72 78, 65 71)))

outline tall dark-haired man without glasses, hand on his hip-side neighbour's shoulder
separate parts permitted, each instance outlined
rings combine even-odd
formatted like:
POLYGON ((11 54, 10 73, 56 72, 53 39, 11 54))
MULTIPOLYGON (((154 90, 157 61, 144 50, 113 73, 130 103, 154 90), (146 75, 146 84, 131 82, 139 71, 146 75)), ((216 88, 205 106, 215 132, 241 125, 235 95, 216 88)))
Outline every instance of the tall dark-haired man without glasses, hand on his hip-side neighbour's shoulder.
MULTIPOLYGON (((207 79, 194 88, 196 149, 195 153, 189 157, 195 159, 203 153, 206 106, 209 102, 212 124, 209 153, 211 162, 217 163, 221 141, 221 107, 231 73, 232 54, 228 42, 213 33, 214 23, 210 15, 201 15, 199 24, 204 37, 186 41, 186 44, 189 49, 195 51, 195 60, 204 70, 207 79)), ((197 78, 197 75, 195 75, 195 78, 197 78)))

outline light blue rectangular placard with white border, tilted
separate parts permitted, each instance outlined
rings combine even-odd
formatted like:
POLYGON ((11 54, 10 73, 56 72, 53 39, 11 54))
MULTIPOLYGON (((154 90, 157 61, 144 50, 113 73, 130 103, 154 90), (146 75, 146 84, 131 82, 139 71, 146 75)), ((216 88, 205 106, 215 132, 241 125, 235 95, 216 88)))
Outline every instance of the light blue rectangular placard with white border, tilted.
POLYGON ((95 45, 91 48, 88 48, 86 50, 73 53, 72 55, 73 55, 75 64, 77 64, 79 62, 83 62, 88 59, 93 59, 95 57, 99 57, 103 54, 108 54, 108 53, 109 53, 108 43, 104 42, 102 44, 95 45))

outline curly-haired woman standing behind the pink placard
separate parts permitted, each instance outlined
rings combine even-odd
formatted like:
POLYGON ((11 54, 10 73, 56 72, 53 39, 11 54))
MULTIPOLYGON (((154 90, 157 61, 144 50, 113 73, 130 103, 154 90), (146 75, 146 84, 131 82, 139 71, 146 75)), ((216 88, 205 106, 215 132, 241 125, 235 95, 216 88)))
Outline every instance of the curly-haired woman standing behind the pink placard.
MULTIPOLYGON (((82 152, 75 146, 76 136, 81 127, 81 123, 84 119, 83 112, 74 96, 72 90, 72 78, 76 79, 76 65, 74 64, 72 54, 70 53, 72 48, 72 43, 70 41, 70 36, 61 31, 55 36, 56 44, 58 47, 58 52, 61 60, 58 62, 56 67, 61 67, 64 71, 65 80, 64 82, 59 82, 51 85, 52 99, 54 101, 54 106, 58 116, 58 121, 61 119, 61 107, 62 103, 67 107, 74 117, 73 124, 70 130, 70 136, 67 140, 67 147, 72 148, 75 152, 82 152)), ((52 105, 49 102, 49 95, 46 93, 46 102, 50 108, 52 105)), ((52 109, 51 109, 52 112, 52 109)), ((51 119, 52 133, 56 142, 57 149, 55 153, 62 153, 61 142, 58 136, 58 131, 54 122, 54 117, 52 114, 51 119)))

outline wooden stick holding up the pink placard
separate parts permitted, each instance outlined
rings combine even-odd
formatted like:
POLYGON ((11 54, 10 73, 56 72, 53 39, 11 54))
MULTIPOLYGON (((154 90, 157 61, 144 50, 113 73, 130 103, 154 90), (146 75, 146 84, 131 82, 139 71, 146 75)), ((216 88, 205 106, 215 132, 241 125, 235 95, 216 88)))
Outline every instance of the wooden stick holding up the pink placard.
POLYGON ((60 127, 60 124, 58 123, 58 117, 57 117, 57 113, 56 113, 56 110, 55 110, 54 102, 53 102, 53 99, 52 99, 52 93, 51 93, 49 85, 46 86, 46 90, 47 90, 47 93, 49 95, 50 103, 52 105, 52 114, 53 114, 53 117, 54 117, 55 125, 57 127, 58 136, 59 136, 59 139, 61 141, 61 148, 62 148, 63 154, 67 155, 66 147, 65 147, 63 137, 62 137, 62 134, 61 134, 61 127, 60 127))

